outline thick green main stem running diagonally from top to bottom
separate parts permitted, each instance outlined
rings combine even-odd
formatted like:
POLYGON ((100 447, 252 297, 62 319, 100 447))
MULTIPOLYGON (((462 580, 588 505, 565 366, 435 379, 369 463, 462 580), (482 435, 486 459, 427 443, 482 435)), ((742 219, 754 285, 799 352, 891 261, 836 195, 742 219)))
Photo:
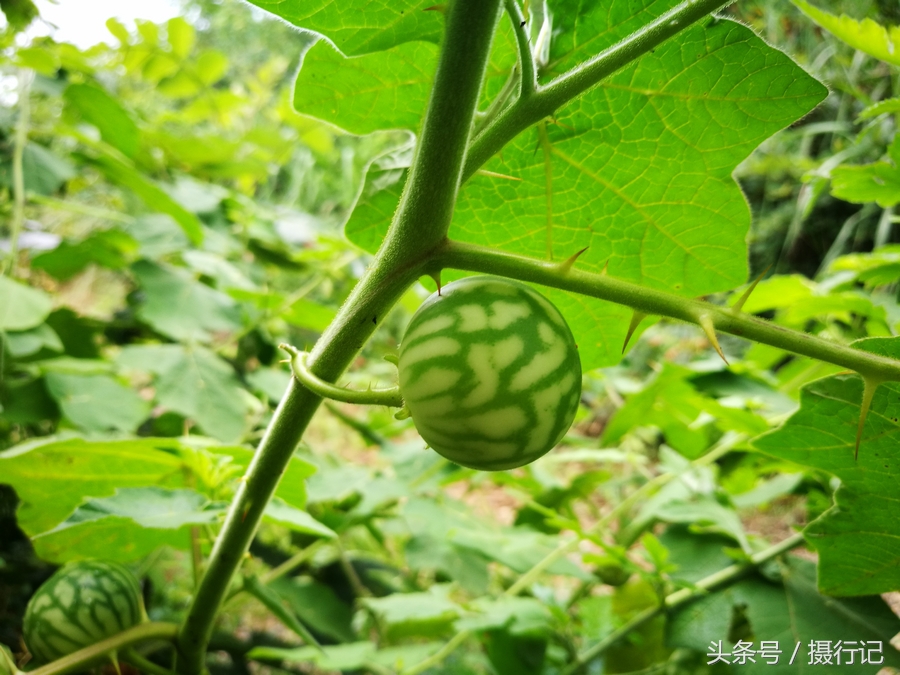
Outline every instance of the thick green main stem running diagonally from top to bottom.
MULTIPOLYGON (((500 0, 456 0, 416 156, 388 236, 372 266, 310 354, 310 372, 333 382, 423 265, 446 240, 500 0)), ((281 475, 321 398, 292 380, 241 481, 178 634, 177 669, 204 670, 205 651, 228 587, 247 554, 281 475)))

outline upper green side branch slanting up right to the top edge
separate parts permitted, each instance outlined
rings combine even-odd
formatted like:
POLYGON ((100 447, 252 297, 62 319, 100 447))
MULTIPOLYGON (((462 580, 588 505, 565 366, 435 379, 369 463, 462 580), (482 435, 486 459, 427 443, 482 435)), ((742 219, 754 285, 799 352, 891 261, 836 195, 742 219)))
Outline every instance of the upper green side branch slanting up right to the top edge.
POLYGON ((549 84, 537 87, 533 94, 520 97, 475 138, 466 160, 464 180, 532 124, 550 117, 604 78, 731 2, 733 0, 684 0, 594 58, 549 84))

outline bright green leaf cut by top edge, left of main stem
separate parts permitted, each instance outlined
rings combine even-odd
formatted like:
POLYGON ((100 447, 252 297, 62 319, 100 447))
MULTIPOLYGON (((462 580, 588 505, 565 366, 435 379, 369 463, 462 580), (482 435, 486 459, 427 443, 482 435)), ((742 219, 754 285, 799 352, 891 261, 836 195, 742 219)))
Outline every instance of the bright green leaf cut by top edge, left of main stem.
POLYGON ((327 37, 348 56, 390 49, 404 42, 437 42, 443 12, 417 0, 331 2, 331 0, 251 0, 298 28, 327 37))

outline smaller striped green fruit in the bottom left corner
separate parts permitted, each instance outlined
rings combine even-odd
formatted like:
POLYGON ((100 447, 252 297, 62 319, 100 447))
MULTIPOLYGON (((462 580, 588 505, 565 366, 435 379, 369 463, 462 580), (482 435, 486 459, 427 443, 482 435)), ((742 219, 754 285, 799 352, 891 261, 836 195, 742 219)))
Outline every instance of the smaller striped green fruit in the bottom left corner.
POLYGON ((117 563, 79 561, 47 579, 25 610, 25 644, 47 663, 144 620, 137 579, 117 563))

